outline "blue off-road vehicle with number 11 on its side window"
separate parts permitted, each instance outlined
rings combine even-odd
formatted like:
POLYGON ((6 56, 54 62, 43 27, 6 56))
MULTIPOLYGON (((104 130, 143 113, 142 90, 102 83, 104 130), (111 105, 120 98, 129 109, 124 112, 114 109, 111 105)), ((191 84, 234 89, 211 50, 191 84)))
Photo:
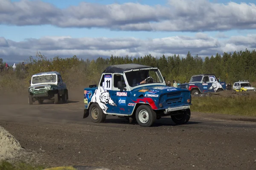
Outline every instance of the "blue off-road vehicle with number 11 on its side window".
POLYGON ((166 86, 158 68, 139 64, 109 66, 98 86, 84 88, 84 118, 97 123, 106 115, 118 115, 146 127, 163 116, 184 124, 190 119, 190 105, 188 90, 166 86))

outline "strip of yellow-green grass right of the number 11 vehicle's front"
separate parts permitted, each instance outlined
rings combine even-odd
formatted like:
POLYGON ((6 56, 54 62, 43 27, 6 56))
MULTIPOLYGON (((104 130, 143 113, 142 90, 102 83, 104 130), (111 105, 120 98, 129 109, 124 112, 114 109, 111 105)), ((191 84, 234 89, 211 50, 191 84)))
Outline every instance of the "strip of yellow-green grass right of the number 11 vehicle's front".
POLYGON ((239 116, 256 116, 256 94, 249 96, 192 97, 192 111, 239 116))

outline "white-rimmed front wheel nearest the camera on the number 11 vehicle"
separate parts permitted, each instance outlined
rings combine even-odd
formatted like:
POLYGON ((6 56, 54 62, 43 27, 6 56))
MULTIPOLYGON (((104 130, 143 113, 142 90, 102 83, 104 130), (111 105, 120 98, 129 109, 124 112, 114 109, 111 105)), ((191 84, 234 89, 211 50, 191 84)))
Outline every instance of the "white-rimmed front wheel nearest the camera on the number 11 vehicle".
POLYGON ((140 126, 150 127, 157 119, 157 113, 149 105, 140 105, 136 110, 136 120, 140 126))

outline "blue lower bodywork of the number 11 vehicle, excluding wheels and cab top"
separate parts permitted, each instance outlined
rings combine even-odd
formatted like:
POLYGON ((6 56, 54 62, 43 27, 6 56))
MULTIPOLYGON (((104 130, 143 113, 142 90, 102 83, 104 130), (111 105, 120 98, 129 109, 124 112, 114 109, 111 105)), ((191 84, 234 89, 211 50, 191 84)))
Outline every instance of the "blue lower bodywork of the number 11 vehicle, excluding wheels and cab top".
POLYGON ((191 105, 191 95, 188 90, 166 85, 148 85, 132 91, 106 91, 102 87, 84 88, 85 109, 88 109, 91 103, 98 103, 104 113, 131 115, 138 103, 148 104, 153 110, 191 105))

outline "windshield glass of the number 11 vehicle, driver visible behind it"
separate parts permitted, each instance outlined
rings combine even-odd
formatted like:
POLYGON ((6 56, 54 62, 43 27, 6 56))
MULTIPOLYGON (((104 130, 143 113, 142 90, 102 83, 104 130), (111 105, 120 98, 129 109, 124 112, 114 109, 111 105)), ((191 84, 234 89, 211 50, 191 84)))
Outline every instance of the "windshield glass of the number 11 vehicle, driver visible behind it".
POLYGON ((141 84, 162 83, 163 79, 158 69, 131 71, 125 73, 131 87, 141 84))

